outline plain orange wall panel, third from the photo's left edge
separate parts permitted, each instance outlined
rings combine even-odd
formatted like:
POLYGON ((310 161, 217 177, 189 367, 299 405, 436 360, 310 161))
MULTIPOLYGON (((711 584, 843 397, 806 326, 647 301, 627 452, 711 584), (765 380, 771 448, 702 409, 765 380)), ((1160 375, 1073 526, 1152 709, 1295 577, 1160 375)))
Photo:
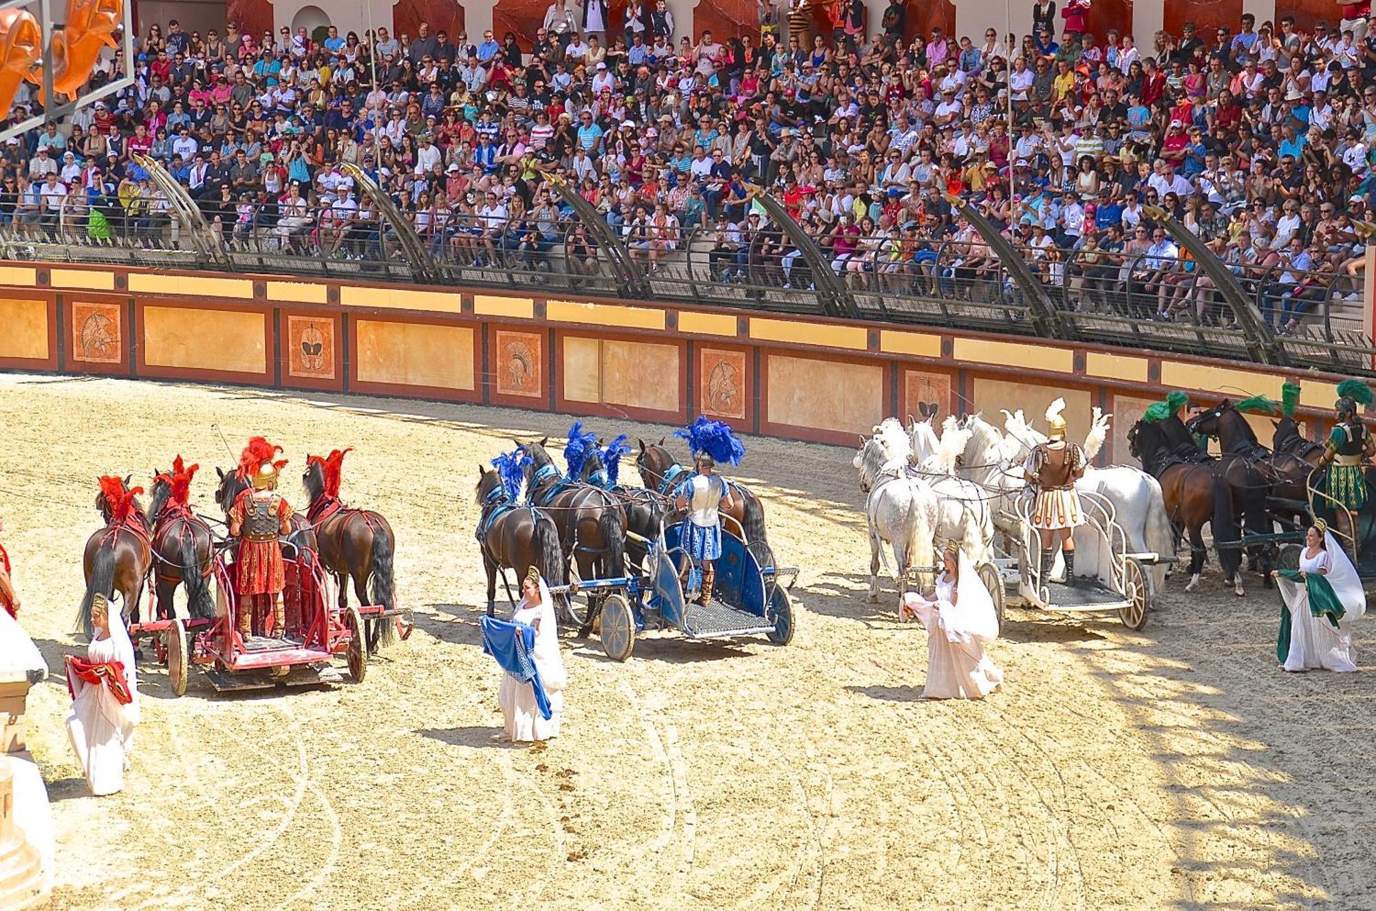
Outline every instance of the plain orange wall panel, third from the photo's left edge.
POLYGON ((359 319, 356 376, 362 383, 473 389, 473 329, 359 319))

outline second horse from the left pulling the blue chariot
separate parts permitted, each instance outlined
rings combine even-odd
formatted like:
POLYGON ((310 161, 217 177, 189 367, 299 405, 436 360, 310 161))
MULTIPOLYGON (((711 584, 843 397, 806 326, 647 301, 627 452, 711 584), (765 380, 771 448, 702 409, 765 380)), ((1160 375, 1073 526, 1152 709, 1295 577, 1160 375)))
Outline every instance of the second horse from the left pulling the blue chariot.
MULTIPOLYGON (((549 438, 538 443, 516 444, 526 471, 530 502, 548 511, 559 528, 564 557, 571 559, 581 579, 607 579, 626 575, 626 512, 615 494, 566 480, 555 460, 545 451, 549 438)), ((583 618, 582 633, 592 629, 601 597, 583 618)))

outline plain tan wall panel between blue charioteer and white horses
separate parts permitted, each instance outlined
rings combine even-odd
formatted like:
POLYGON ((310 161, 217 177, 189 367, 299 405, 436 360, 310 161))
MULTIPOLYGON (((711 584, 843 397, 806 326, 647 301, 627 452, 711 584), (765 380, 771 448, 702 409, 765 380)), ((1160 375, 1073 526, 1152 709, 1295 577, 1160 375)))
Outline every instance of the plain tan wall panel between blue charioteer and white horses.
POLYGON ((868 433, 883 420, 883 367, 771 354, 771 424, 868 433))

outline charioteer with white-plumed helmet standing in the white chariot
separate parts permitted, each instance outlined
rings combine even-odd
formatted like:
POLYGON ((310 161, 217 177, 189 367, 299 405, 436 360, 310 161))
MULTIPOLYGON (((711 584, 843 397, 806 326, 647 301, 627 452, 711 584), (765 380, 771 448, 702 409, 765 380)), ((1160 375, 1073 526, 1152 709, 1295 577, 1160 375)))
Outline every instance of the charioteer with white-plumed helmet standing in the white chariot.
POLYGON ((1065 399, 1051 402, 1046 410, 1050 424, 1049 439, 1038 443, 1022 472, 1036 491, 1032 505, 1032 527, 1042 538, 1042 583, 1050 581, 1055 563, 1055 545, 1065 556, 1065 583, 1075 585, 1075 530, 1084 524, 1084 511, 1075 482, 1084 476, 1088 460, 1084 450, 1065 439, 1065 399))

